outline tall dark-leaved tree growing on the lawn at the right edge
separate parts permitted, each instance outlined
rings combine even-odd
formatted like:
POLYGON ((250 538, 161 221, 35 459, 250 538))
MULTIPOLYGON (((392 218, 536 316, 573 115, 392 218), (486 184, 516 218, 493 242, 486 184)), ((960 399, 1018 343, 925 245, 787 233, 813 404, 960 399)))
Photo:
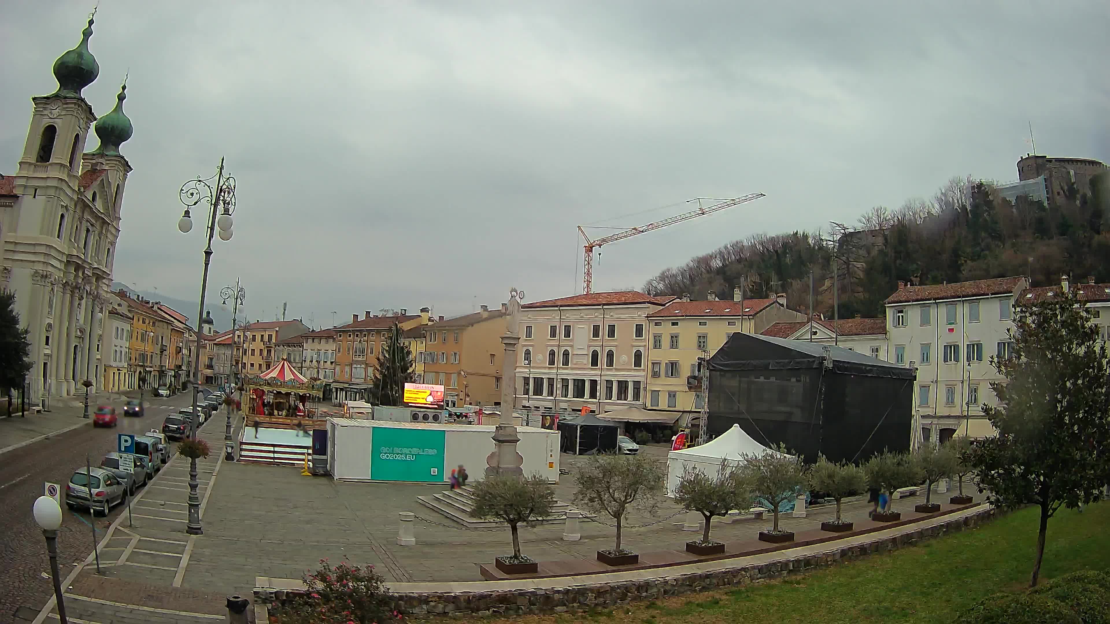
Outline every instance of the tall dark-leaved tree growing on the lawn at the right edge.
POLYGON ((992 504, 1040 507, 1036 586, 1049 519, 1098 500, 1110 476, 1110 365, 1074 291, 1013 312, 1013 354, 991 358, 1006 381, 990 384, 998 405, 983 407, 998 435, 973 446, 968 462, 992 504))

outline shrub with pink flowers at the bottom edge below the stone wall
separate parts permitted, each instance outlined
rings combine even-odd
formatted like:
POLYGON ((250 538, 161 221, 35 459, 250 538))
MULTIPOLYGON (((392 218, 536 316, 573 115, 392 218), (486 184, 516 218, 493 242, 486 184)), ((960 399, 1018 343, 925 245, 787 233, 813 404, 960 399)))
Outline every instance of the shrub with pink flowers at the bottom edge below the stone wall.
POLYGON ((400 620, 385 581, 373 565, 337 565, 320 560, 303 577, 306 591, 271 611, 282 624, 377 624, 400 620))

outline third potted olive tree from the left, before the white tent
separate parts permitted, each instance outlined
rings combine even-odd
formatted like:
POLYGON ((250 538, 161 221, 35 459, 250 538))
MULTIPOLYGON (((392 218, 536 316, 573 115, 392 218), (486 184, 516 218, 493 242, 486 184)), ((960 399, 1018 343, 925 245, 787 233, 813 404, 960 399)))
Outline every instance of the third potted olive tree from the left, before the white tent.
POLYGON ((694 511, 705 519, 702 540, 686 542, 686 552, 696 555, 716 555, 725 552, 724 542, 709 540, 714 516, 725 516, 733 510, 744 509, 751 501, 751 487, 744 480, 735 462, 722 460, 715 476, 687 466, 675 487, 675 502, 686 511, 694 511))

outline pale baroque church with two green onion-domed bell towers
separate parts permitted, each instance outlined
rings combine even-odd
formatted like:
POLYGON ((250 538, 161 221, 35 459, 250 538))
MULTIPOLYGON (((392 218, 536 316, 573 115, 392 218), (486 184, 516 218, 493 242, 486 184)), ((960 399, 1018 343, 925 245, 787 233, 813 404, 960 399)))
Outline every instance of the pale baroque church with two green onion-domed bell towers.
POLYGON ((0 175, 0 286, 16 293, 29 330, 29 395, 44 400, 83 393, 85 379, 91 392, 102 385, 101 333, 131 172, 120 153, 132 133, 127 83, 99 119, 81 95, 100 73, 89 51, 92 24, 54 61, 58 90, 31 98, 23 155, 14 175, 0 175), (100 144, 85 152, 90 128, 100 144))

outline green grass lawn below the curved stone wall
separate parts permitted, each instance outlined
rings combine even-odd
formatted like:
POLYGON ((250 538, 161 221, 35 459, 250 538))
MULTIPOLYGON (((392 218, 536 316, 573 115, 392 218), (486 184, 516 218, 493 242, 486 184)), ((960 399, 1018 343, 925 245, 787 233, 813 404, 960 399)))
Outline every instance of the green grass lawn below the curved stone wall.
MULTIPOLYGON (((1039 509, 890 554, 737 590, 690 594, 593 613, 505 618, 517 623, 952 622, 999 591, 1029 583, 1039 509)), ((1110 570, 1110 503, 1049 521, 1041 581, 1077 570, 1110 570)))

